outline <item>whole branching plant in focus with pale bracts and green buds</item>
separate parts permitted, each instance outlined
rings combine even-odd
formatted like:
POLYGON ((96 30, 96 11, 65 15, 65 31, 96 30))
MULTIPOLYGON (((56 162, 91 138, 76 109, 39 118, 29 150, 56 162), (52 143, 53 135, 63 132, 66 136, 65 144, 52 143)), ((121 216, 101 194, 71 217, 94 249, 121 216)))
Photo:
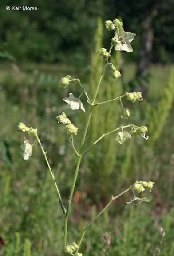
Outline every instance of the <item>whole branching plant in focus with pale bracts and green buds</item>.
MULTIPOLYGON (((40 148, 42 150, 42 153, 44 155, 45 161, 47 163, 48 172, 49 172, 49 174, 50 174, 50 176, 53 179, 53 182, 55 184, 55 188, 56 188, 58 198, 59 198, 59 204, 60 204, 60 207, 62 209, 62 213, 64 215, 64 245, 63 245, 64 256, 66 254, 82 256, 82 253, 79 253, 79 249, 80 249, 80 246, 82 244, 83 237, 85 236, 85 233, 87 232, 87 229, 91 227, 91 225, 95 222, 95 220, 97 220, 99 218, 100 215, 102 215, 104 212, 106 212, 107 208, 111 205, 111 203, 114 200, 118 199, 119 196, 122 196, 126 192, 132 190, 133 199, 131 199, 130 202, 127 202, 127 207, 131 206, 131 205, 138 205, 142 202, 149 202, 150 201, 146 197, 139 198, 139 197, 135 196, 135 192, 137 192, 139 194, 140 192, 143 192, 145 190, 145 188, 148 191, 151 191, 151 189, 153 188, 154 182, 151 182, 151 181, 149 181, 149 182, 136 181, 129 188, 127 188, 123 192, 119 193, 119 195, 111 196, 111 200, 103 208, 103 210, 101 212, 99 212, 91 220, 90 223, 86 224, 79 243, 78 242, 77 243, 76 242, 71 242, 71 243, 67 244, 68 218, 69 218, 70 213, 71 213, 72 197, 73 197, 73 194, 74 194, 75 183, 76 183, 76 180, 77 180, 79 167, 80 167, 81 160, 82 160, 83 156, 85 156, 87 154, 87 152, 89 152, 91 150, 91 148, 93 148, 95 146, 95 144, 97 144, 100 140, 102 140, 104 137, 110 135, 113 132, 117 132, 116 141, 119 144, 123 144, 127 140, 130 140, 132 136, 141 136, 145 140, 148 139, 148 137, 146 137, 146 132, 148 131, 148 128, 146 126, 137 126, 135 124, 127 124, 127 125, 124 125, 124 126, 121 125, 118 128, 115 128, 111 131, 107 131, 106 133, 103 133, 88 148, 84 149, 85 138, 86 138, 86 135, 87 135, 89 124, 90 124, 93 108, 96 108, 96 107, 99 108, 99 106, 101 104, 110 104, 111 102, 115 102, 115 100, 119 100, 120 104, 121 104, 121 107, 122 107, 120 117, 123 118, 123 119, 128 119, 130 117, 130 110, 128 108, 123 107, 122 99, 124 97, 126 97, 127 100, 130 100, 132 103, 134 103, 136 100, 137 101, 142 101, 143 100, 141 92, 126 92, 123 95, 121 95, 119 97, 116 97, 114 99, 110 99, 110 100, 103 101, 103 102, 96 102, 96 98, 97 98, 97 95, 98 95, 98 92, 99 92, 99 87, 100 87, 100 84, 103 80, 103 76, 104 76, 104 73, 105 73, 105 70, 106 70, 107 66, 109 68, 111 68, 111 77, 113 79, 119 79, 119 77, 121 76, 121 73, 116 69, 114 64, 109 62, 109 58, 111 57, 112 48, 115 47, 115 50, 118 50, 118 51, 126 51, 126 52, 132 52, 133 51, 130 43, 134 39, 135 34, 130 33, 130 32, 125 32, 122 28, 122 25, 123 25, 122 22, 120 22, 118 19, 115 19, 113 22, 110 21, 110 20, 106 21, 106 29, 108 31, 114 32, 115 35, 111 39, 111 46, 110 46, 109 51, 107 51, 107 49, 105 49, 105 48, 100 48, 100 49, 97 50, 97 53, 99 55, 103 56, 103 69, 102 69, 101 75, 99 77, 99 81, 96 84, 96 89, 95 89, 95 93, 94 93, 94 96, 93 96, 92 100, 88 96, 87 90, 83 87, 79 78, 72 78, 71 76, 67 75, 67 76, 63 77, 60 81, 60 84, 64 88, 66 88, 70 83, 75 83, 75 82, 77 82, 80 85, 80 87, 82 88, 82 93, 79 95, 79 97, 75 97, 73 95, 73 93, 69 93, 69 97, 66 97, 66 98, 63 99, 67 104, 70 104, 70 107, 71 107, 72 110, 81 109, 81 110, 83 110, 84 113, 86 112, 86 110, 85 110, 86 106, 84 107, 83 103, 80 100, 83 93, 85 94, 85 96, 87 98, 87 103, 88 103, 88 108, 89 108, 86 125, 85 125, 85 128, 84 128, 81 143, 79 145, 79 150, 76 149, 75 145, 74 145, 74 135, 77 135, 78 128, 75 127, 75 124, 73 124, 71 122, 71 120, 67 117, 67 115, 64 112, 62 112, 59 116, 56 116, 56 120, 58 121, 58 123, 64 124, 65 128, 67 129, 67 135, 71 136, 72 148, 74 150, 75 156, 77 156, 77 158, 78 158, 77 165, 76 165, 76 168, 75 168, 75 175, 74 175, 74 178, 72 180, 71 192, 70 192, 70 196, 69 196, 69 199, 68 199, 67 207, 65 207, 65 204, 63 203, 63 199, 62 199, 62 196, 59 192, 58 185, 55 181, 54 173, 52 172, 51 166, 50 166, 50 164, 48 162, 48 159, 47 159, 47 152, 45 152, 45 150, 44 150, 44 148, 41 144, 40 138, 38 136, 37 129, 34 129, 32 127, 28 128, 23 123, 19 123, 18 128, 17 128, 18 132, 24 132, 24 133, 27 133, 29 136, 36 137, 36 141, 39 143, 40 148)), ((102 113, 100 113, 100 115, 102 115, 102 113)), ((100 118, 99 116, 96 117, 96 119, 99 119, 99 118, 100 118)), ((106 120, 106 121, 108 121, 108 120, 106 120)), ((24 137, 24 144, 21 145, 21 148, 22 148, 22 150, 24 150, 24 159, 25 160, 28 160, 29 157, 32 155, 33 146, 34 146, 34 144, 31 145, 30 142, 24 137)), ((29 240, 26 240, 26 246, 27 246, 26 248, 28 248, 28 249, 25 250, 26 252, 24 252, 24 254, 25 255, 30 255, 29 240)))

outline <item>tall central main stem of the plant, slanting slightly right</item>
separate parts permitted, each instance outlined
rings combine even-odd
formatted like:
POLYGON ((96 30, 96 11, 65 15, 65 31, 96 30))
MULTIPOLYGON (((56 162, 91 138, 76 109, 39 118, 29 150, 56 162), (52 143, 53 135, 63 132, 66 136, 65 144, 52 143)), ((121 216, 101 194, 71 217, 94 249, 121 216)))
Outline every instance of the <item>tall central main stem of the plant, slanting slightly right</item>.
MULTIPOLYGON (((109 54, 111 53, 112 47, 113 47, 113 44, 111 44, 111 47, 110 47, 110 50, 109 50, 109 54)), ((99 81, 98 81, 98 84, 97 84, 97 87, 96 87, 96 90, 95 90, 95 95, 94 95, 93 100, 91 102, 89 114, 88 114, 88 117, 87 117, 87 122, 86 122, 85 129, 84 129, 84 132, 83 132, 82 141, 81 141, 80 150, 79 150, 79 155, 80 156, 79 156, 79 160, 77 162, 77 166, 76 166, 76 169, 75 169, 75 176, 74 176, 74 180, 73 180, 72 187, 71 187, 71 192, 70 192, 70 197, 69 197, 70 205, 71 205, 71 200, 72 200, 72 196, 73 196, 73 193, 74 193, 74 188, 75 188, 75 183, 76 183, 76 180, 77 180, 77 175, 78 175, 78 172, 79 172, 80 162, 81 162, 81 159, 82 159, 81 155, 82 155, 82 152, 83 152, 83 146, 84 146, 84 143, 85 143, 85 137, 87 135, 88 126, 89 126, 89 123, 90 123, 90 120, 91 120, 92 110, 93 110, 93 107, 94 107, 92 105, 95 103, 95 99, 97 97, 97 93, 99 91, 99 87, 100 87, 100 84, 101 84, 101 81, 102 81, 105 69, 107 67, 108 59, 109 58, 107 57, 105 59, 104 64, 103 64, 103 70, 101 72, 101 75, 100 75, 100 78, 99 78, 99 81)), ((68 216, 65 216, 65 223, 66 223, 66 225, 65 225, 65 229, 64 229, 64 250, 66 248, 65 244, 67 244, 67 221, 68 221, 68 216)), ((66 252, 64 252, 64 256, 65 255, 66 255, 66 252)))

